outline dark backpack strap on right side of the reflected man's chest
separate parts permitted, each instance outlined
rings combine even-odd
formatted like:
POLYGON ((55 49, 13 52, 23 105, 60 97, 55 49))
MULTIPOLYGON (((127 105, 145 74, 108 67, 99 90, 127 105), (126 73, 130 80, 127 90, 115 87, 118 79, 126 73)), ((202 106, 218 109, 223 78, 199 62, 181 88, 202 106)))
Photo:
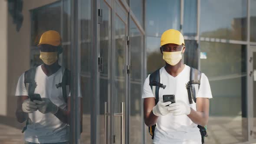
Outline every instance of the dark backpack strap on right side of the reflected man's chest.
POLYGON ((70 92, 70 70, 65 69, 63 76, 62 76, 62 82, 59 84, 56 84, 56 88, 62 88, 62 96, 64 98, 64 101, 67 103, 68 102, 68 95, 70 92))

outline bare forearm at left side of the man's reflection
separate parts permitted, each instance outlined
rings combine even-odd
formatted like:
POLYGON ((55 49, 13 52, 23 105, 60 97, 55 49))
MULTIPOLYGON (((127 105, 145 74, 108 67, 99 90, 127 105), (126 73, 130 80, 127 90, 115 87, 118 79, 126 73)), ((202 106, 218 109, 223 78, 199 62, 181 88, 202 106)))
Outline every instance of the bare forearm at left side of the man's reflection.
POLYGON ((24 100, 28 99, 29 97, 26 95, 17 96, 17 108, 16 108, 16 118, 17 121, 23 123, 28 118, 28 113, 23 112, 22 110, 22 103, 24 100))

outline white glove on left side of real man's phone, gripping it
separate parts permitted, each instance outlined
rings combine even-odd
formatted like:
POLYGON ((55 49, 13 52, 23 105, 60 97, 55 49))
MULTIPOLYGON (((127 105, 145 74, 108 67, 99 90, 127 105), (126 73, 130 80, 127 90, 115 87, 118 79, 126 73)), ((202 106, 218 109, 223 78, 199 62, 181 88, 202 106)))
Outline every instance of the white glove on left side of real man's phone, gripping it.
POLYGON ((154 106, 153 108, 153 114, 156 116, 167 115, 169 113, 168 111, 169 107, 167 105, 170 105, 170 104, 171 104, 171 101, 167 101, 167 102, 158 101, 157 105, 154 106))

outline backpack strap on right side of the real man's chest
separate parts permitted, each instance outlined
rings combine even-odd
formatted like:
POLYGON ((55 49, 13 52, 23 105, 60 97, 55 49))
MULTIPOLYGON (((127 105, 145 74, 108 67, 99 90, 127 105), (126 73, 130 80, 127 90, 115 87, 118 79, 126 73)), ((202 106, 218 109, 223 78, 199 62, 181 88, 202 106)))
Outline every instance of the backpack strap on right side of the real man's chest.
POLYGON ((199 70, 190 68, 190 81, 186 85, 190 104, 193 104, 193 100, 195 103, 197 102, 197 93, 200 88, 201 75, 202 73, 199 70))

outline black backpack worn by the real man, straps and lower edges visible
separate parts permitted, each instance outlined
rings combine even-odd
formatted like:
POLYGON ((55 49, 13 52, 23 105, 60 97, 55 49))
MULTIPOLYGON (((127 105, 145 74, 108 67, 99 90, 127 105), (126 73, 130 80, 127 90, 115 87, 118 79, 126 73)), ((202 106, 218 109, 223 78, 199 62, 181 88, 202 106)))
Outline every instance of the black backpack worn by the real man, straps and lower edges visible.
MULTIPOLYGON (((186 85, 190 104, 193 104, 193 101, 196 103, 196 100, 197 100, 196 95, 200 88, 201 74, 202 73, 199 70, 190 68, 190 81, 187 82, 187 85, 186 85)), ((159 101, 159 89, 160 88, 164 89, 166 87, 166 85, 163 85, 160 83, 160 69, 156 70, 149 76, 149 85, 155 97, 155 105, 157 105, 159 101)), ((155 127, 156 127, 156 124, 148 127, 148 132, 152 136, 152 139, 154 139, 155 127)), ((197 127, 200 130, 200 134, 202 137, 202 144, 204 144, 204 137, 208 136, 206 132, 206 127, 202 127, 200 125, 197 125, 197 127)))

